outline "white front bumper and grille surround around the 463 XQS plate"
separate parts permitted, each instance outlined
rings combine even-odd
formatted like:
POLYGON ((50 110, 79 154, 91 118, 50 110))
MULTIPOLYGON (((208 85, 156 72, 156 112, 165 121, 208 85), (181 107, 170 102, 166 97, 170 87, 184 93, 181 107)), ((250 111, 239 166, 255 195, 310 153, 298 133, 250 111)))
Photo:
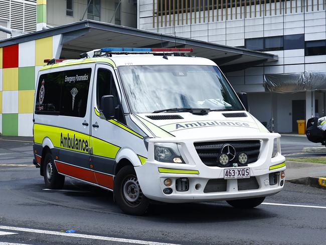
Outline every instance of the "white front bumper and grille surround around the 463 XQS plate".
MULTIPOLYGON (((182 154, 186 157, 188 163, 160 163, 149 157, 144 165, 135 167, 141 190, 149 199, 169 203, 233 200, 276 194, 282 190, 285 179, 281 179, 278 175, 276 183, 271 185, 269 178, 270 174, 280 173, 285 170, 285 166, 279 165, 285 162, 285 158, 280 154, 274 158, 267 157, 271 156, 273 140, 275 138, 270 135, 266 136, 268 139, 263 139, 257 162, 249 164, 247 167, 237 167, 237 169, 250 168, 250 181, 257 183, 255 186, 244 183, 243 180, 246 179, 224 180, 225 168, 206 166, 201 162, 193 147, 194 141, 185 142, 179 140, 178 143, 182 144, 182 148, 184 149, 182 154), (276 166, 277 168, 271 168, 270 170, 270 166, 276 166), (161 171, 161 169, 165 170, 161 171), (172 180, 172 184, 169 186, 172 189, 171 194, 165 194, 163 192, 165 188, 168 188, 164 184, 167 178, 172 180), (176 182, 179 178, 188 178, 189 189, 187 191, 177 190, 176 182), (210 190, 208 192, 206 187, 212 181, 222 182, 224 189, 222 188, 222 190, 217 191, 210 190)), ((159 142, 162 142, 162 140, 159 142)), ((169 142, 171 142, 171 139, 169 142)), ((151 149, 149 144, 148 155, 152 156, 150 154, 151 149)))

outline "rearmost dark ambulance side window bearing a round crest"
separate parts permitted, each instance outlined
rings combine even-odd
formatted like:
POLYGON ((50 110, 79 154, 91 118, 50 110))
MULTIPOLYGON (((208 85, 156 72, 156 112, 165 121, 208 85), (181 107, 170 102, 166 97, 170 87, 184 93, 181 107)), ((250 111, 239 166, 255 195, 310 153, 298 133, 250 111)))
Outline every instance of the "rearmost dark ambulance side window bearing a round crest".
POLYGON ((40 76, 36 93, 35 113, 60 114, 62 72, 52 72, 40 76))

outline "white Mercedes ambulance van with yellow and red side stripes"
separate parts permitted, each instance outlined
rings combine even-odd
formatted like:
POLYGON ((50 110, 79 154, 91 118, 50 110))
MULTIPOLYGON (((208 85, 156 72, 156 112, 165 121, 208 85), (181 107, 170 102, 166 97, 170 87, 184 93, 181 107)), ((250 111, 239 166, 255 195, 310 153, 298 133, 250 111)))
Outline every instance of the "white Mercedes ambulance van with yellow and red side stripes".
POLYGON ((46 187, 78 179, 136 215, 151 200, 252 208, 279 192, 280 135, 248 112, 246 94, 213 61, 189 51, 103 48, 41 68, 34 164, 46 187))

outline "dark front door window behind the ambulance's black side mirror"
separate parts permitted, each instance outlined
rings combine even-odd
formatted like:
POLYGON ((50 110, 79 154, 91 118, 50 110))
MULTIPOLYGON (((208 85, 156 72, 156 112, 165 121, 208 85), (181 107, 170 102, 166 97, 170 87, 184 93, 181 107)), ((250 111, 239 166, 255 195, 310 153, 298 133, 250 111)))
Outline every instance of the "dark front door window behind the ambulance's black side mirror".
POLYGON ((111 71, 107 69, 97 70, 97 82, 96 82, 96 101, 97 107, 100 108, 101 98, 103 95, 114 96, 114 106, 118 107, 116 111, 116 118, 124 122, 124 116, 119 103, 119 94, 114 83, 114 77, 111 71))

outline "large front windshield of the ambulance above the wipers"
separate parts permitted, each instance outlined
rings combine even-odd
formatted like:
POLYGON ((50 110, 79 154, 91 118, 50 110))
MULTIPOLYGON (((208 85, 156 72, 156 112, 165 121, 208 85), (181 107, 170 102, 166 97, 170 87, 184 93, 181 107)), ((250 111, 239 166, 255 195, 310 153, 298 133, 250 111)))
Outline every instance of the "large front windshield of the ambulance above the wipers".
POLYGON ((244 110, 216 66, 143 65, 118 70, 131 113, 167 108, 244 110))

